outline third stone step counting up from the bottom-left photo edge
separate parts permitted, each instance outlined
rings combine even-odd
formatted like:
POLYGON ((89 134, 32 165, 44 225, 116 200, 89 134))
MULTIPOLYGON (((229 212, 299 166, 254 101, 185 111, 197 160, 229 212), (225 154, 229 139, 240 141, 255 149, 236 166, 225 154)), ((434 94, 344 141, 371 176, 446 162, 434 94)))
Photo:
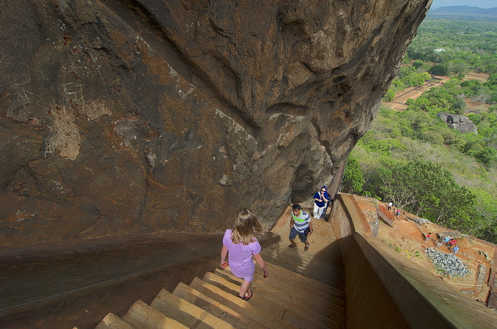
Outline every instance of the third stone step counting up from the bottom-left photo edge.
POLYGON ((162 289, 159 292, 150 306, 188 328, 235 328, 229 323, 216 318, 209 312, 187 302, 181 297, 171 294, 165 289, 162 289))

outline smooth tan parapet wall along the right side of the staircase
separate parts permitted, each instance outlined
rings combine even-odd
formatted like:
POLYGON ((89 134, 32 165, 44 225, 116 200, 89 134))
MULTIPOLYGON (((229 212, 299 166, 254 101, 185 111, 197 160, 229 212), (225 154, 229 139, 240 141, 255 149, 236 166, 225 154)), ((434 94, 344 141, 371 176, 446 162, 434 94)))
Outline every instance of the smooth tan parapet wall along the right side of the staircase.
POLYGON ((495 328, 495 312, 373 237, 352 196, 334 199, 330 222, 345 263, 347 328, 495 328))

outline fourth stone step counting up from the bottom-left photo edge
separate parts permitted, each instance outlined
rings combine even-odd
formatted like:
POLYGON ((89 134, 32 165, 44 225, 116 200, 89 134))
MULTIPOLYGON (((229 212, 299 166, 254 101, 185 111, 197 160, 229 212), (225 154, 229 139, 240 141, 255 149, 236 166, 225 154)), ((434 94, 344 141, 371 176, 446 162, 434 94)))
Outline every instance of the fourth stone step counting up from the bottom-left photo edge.
POLYGON ((250 328, 250 329, 266 329, 269 327, 262 326, 255 320, 249 319, 243 314, 219 303, 218 301, 207 297, 200 291, 180 282, 172 292, 176 296, 200 307, 212 314, 213 316, 223 319, 236 328, 250 328))

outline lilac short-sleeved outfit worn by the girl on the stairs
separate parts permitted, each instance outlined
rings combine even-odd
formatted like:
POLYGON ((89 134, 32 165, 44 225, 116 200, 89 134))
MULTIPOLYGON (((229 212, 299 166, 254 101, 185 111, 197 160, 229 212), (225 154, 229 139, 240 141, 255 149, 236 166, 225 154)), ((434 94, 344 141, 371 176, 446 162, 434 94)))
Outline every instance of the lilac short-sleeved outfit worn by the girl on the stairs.
POLYGON ((223 237, 223 245, 228 248, 228 263, 233 275, 240 278, 245 278, 251 281, 255 264, 252 261, 252 255, 260 253, 260 245, 257 239, 254 242, 244 245, 242 243, 234 244, 231 241, 231 233, 233 230, 226 230, 223 237))

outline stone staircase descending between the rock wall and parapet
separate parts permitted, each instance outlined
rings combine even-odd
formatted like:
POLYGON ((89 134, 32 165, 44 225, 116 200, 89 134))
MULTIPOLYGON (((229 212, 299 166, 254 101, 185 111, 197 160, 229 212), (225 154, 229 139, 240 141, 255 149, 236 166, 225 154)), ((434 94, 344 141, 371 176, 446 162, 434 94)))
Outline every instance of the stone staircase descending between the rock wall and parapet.
POLYGON ((207 272, 172 293, 137 301, 121 318, 109 313, 96 329, 345 328, 341 260, 330 262, 277 243, 261 252, 267 278, 255 265, 253 297, 238 297, 239 279, 226 268, 207 272))

